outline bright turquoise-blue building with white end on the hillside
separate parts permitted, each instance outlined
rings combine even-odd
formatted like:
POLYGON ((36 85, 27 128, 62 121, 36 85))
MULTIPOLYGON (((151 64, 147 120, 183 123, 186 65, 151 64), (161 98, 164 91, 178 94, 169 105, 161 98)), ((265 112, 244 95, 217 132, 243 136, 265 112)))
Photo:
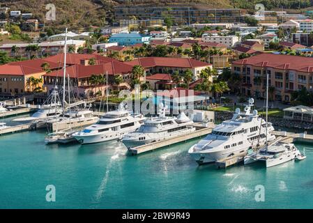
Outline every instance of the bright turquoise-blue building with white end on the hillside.
POLYGON ((109 38, 109 43, 118 43, 120 46, 135 45, 137 43, 149 43, 151 36, 140 33, 119 33, 109 38))

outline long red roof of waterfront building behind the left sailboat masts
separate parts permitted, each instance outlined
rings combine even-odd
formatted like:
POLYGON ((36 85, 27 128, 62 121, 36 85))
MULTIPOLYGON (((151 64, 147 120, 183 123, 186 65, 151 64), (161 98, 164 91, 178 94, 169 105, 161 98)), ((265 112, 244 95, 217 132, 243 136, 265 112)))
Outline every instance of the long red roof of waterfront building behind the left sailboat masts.
MULTIPOLYGON (((132 72, 132 66, 122 63, 120 61, 112 61, 109 63, 102 63, 93 66, 84 66, 76 64, 66 68, 66 73, 70 75, 71 78, 84 78, 91 77, 91 75, 123 75, 132 72)), ((49 77, 61 77, 63 75, 62 70, 56 70, 54 72, 47 73, 45 76, 49 77)))

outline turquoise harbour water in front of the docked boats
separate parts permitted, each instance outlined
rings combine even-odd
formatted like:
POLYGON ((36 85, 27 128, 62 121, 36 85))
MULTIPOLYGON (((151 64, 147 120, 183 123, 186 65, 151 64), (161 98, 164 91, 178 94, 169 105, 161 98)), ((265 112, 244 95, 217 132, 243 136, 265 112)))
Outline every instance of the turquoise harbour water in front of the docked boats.
POLYGON ((313 208, 313 146, 307 159, 269 169, 198 167, 197 140, 130 156, 121 143, 45 146, 45 132, 0 136, 0 208, 313 208), (56 187, 56 202, 45 187, 56 187), (264 185, 265 201, 254 200, 264 185))

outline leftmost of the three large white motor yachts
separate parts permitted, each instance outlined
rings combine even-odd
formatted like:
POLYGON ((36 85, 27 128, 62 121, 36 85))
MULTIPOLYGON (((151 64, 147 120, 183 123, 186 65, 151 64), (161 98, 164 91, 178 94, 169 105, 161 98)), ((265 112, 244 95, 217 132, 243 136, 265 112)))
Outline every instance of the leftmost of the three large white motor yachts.
POLYGON ((73 134, 81 144, 93 144, 121 139, 124 134, 135 132, 144 121, 144 116, 132 116, 121 103, 119 109, 107 112, 100 120, 73 134))

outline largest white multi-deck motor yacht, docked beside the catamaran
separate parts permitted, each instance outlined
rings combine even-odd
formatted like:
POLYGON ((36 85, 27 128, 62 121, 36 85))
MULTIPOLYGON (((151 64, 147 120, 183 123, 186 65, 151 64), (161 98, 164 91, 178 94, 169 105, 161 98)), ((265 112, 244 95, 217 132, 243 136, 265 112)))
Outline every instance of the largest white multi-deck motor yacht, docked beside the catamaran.
POLYGON ((231 120, 217 125, 211 134, 192 146, 188 153, 198 164, 215 162, 244 153, 249 148, 265 144, 266 126, 268 127, 267 138, 273 141, 275 135, 271 134, 274 130, 272 124, 266 123, 263 118, 259 117, 257 110, 251 112, 253 104, 254 100, 250 98, 249 104, 245 106, 245 112, 237 108, 231 120))

